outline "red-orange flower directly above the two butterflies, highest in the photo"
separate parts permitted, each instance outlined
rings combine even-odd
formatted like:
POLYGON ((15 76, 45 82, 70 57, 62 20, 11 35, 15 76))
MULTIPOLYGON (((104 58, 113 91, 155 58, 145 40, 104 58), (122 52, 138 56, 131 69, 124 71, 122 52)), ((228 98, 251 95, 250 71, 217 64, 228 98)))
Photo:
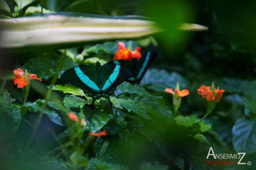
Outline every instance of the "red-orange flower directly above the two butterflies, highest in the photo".
POLYGON ((118 50, 113 60, 132 60, 133 58, 137 58, 138 60, 141 58, 140 47, 136 47, 136 49, 131 52, 131 50, 125 48, 124 42, 118 42, 117 46, 118 50))

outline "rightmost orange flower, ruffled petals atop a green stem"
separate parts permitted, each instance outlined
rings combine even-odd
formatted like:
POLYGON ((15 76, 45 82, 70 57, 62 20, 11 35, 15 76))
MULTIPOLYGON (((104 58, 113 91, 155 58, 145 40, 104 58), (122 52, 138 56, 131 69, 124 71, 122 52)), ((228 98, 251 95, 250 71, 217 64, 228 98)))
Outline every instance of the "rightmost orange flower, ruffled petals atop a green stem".
POLYGON ((219 90, 219 87, 214 89, 214 92, 211 90, 211 86, 200 86, 199 89, 197 89, 197 93, 199 95, 202 95, 203 99, 206 99, 207 101, 215 101, 218 103, 219 100, 222 98, 224 90, 219 90))

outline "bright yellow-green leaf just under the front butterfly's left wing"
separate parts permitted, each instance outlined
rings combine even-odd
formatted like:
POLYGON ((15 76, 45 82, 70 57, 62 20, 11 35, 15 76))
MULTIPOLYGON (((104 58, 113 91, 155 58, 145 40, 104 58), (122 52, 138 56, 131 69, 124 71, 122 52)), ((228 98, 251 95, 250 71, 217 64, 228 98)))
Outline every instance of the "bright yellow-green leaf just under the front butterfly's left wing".
POLYGON ((63 91, 64 93, 70 93, 72 95, 76 96, 85 96, 83 90, 81 88, 74 86, 73 84, 65 84, 65 86, 62 85, 51 85, 47 86, 50 90, 59 90, 63 91))

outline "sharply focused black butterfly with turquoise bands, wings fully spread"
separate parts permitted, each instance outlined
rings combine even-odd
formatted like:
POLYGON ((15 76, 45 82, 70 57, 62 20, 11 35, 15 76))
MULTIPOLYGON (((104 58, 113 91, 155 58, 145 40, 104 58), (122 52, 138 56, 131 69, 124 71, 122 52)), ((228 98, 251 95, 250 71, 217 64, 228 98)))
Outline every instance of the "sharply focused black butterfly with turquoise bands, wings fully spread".
POLYGON ((95 66, 76 66, 65 71, 60 79, 80 87, 88 96, 93 98, 91 110, 94 110, 94 102, 98 98, 106 98, 112 108, 110 95, 116 87, 125 80, 132 78, 133 74, 128 68, 120 64, 105 64, 99 62, 95 66))

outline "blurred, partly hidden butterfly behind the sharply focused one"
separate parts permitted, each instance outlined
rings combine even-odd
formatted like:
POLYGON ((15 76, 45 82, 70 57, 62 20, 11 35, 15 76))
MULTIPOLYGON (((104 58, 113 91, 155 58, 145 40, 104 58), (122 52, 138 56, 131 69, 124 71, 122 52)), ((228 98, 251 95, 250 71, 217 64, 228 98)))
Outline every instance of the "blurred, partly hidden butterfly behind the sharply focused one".
POLYGON ((121 64, 122 66, 129 68, 132 71, 133 77, 128 79, 127 81, 135 84, 137 82, 140 82, 148 66, 156 58, 156 56, 156 52, 147 52, 147 54, 142 56, 139 60, 137 60, 136 58, 134 58, 133 60, 114 60, 107 64, 121 64))

